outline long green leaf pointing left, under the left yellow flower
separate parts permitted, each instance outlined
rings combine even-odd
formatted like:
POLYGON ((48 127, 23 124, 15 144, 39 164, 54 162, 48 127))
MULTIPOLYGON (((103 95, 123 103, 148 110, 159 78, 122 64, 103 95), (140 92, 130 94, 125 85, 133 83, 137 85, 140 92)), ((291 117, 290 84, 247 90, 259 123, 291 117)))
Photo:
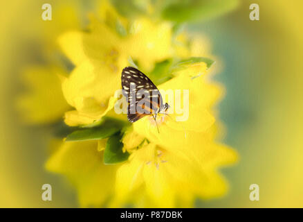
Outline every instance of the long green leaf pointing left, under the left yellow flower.
POLYGON ((103 119, 104 120, 100 123, 100 126, 74 131, 66 137, 66 142, 108 138, 126 126, 125 121, 109 117, 104 117, 103 119))

